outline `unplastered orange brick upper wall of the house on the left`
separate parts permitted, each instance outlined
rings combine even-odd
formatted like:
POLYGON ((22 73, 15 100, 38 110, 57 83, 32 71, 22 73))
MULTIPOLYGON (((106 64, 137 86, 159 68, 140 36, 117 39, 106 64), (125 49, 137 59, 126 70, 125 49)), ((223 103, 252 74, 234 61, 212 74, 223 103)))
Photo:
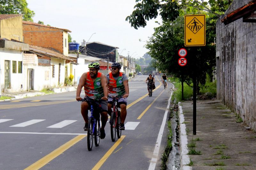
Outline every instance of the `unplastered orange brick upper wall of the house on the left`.
POLYGON ((24 43, 52 47, 63 53, 63 30, 38 25, 23 24, 24 43))

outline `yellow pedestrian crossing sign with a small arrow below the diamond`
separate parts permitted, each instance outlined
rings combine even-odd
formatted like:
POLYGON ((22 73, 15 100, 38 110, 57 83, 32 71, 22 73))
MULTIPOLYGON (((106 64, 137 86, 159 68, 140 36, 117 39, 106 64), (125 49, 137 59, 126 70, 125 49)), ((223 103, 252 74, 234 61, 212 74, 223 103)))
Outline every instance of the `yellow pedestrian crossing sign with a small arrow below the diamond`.
POLYGON ((205 15, 185 15, 185 46, 205 46, 205 15))

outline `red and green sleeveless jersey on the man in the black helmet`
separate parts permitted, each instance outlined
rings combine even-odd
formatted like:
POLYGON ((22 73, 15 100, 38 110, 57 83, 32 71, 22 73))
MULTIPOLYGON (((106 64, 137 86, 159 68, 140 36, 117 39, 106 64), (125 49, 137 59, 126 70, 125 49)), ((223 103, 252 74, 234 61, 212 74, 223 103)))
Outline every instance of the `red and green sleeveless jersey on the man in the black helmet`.
POLYGON ((109 73, 108 81, 108 95, 109 96, 123 96, 125 94, 123 84, 123 73, 119 72, 119 76, 115 80, 112 73, 109 73))

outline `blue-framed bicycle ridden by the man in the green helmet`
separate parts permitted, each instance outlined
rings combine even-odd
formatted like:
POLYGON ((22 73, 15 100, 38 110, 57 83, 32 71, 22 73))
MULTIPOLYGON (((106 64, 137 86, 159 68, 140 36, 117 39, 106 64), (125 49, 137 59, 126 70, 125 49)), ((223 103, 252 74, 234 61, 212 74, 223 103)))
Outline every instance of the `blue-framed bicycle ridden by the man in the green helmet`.
MULTIPOLYGON (((87 100, 80 100, 87 101, 87 100)), ((88 151, 92 150, 93 138, 95 146, 100 145, 100 108, 97 107, 96 101, 91 103, 91 116, 88 117, 88 131, 87 131, 87 148, 88 151)))

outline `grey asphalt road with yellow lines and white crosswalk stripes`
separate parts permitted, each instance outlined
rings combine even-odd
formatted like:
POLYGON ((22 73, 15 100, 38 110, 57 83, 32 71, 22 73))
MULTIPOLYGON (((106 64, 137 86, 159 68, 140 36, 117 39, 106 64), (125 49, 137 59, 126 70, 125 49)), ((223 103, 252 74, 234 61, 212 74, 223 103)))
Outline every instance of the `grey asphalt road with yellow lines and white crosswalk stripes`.
POLYGON ((146 78, 129 81, 121 138, 111 141, 107 123, 106 138, 92 151, 75 91, 0 102, 0 169, 160 169, 172 84, 164 90, 156 76, 149 97, 146 78))

